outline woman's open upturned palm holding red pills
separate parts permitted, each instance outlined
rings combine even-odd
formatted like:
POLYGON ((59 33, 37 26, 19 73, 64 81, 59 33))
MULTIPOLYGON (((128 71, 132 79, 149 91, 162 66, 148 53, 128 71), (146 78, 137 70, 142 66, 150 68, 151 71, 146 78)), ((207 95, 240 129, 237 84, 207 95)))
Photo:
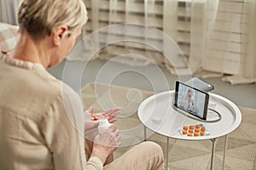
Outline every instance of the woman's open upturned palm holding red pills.
POLYGON ((84 130, 89 130, 91 128, 97 127, 99 119, 108 119, 108 122, 116 122, 117 119, 115 116, 118 116, 120 113, 119 108, 113 108, 108 111, 102 111, 100 113, 93 113, 93 108, 90 107, 89 110, 85 111, 85 121, 84 121, 84 130))

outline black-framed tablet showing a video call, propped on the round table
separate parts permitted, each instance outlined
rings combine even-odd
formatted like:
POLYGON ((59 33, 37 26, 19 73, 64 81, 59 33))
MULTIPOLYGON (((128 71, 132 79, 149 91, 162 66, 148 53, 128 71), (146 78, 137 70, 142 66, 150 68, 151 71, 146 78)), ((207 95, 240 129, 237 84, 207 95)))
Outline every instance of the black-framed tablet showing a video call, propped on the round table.
POLYGON ((207 120, 209 94, 183 82, 176 82, 174 106, 202 120, 207 120))

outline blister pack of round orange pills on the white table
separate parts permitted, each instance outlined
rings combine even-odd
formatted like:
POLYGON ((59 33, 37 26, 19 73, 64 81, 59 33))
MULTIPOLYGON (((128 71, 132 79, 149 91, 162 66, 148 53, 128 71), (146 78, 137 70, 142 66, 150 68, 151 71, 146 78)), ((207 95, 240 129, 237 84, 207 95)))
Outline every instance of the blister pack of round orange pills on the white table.
POLYGON ((210 133, 207 131, 203 124, 187 125, 179 128, 179 133, 183 136, 207 136, 210 133))

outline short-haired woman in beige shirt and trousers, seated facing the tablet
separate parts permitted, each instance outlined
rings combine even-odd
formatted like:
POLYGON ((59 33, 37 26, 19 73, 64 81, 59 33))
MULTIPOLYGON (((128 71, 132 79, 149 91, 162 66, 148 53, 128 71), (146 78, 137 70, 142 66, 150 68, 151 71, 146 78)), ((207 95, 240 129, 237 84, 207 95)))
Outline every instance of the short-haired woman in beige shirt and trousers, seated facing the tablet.
MULTIPOLYGON (((85 158, 84 129, 97 126, 90 122, 93 110, 84 116, 78 94, 46 71, 73 48, 87 21, 84 3, 22 0, 18 21, 15 50, 0 56, 0 169, 163 169, 162 150, 152 142, 104 165, 119 145, 114 125, 96 133, 85 158)), ((115 122, 117 114, 119 109, 97 116, 115 122)))

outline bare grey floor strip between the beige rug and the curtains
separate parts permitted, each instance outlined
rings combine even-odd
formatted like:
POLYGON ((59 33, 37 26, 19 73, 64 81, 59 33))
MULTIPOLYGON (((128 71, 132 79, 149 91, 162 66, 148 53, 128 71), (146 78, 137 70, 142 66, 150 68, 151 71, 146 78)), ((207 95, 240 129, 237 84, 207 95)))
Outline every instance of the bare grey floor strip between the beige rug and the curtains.
MULTIPOLYGON (((183 79, 164 68, 151 65, 131 66, 96 59, 90 62, 63 60, 49 72, 79 91, 89 82, 104 82, 128 88, 138 88, 154 93, 174 88, 175 81, 183 79)), ((236 105, 256 109, 256 84, 230 85, 220 77, 205 78, 214 86, 212 93, 220 94, 236 105)))

